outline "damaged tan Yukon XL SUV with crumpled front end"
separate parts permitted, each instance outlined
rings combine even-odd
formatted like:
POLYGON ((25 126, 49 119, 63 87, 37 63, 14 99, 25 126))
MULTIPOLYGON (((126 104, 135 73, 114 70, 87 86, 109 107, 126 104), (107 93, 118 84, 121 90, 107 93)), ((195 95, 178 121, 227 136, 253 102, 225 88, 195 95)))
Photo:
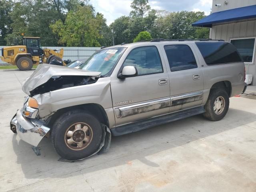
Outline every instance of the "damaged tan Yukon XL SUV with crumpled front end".
POLYGON ((41 64, 10 123, 33 146, 49 136, 67 160, 107 150, 119 136, 196 114, 213 121, 246 89, 236 48, 218 40, 162 40, 95 52, 79 69, 41 64))

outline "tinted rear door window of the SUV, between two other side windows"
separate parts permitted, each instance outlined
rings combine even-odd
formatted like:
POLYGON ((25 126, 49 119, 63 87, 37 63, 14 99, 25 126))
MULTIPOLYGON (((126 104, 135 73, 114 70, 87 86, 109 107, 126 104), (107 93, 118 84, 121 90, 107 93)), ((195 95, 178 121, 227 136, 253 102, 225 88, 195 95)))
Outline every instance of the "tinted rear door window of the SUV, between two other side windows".
POLYGON ((196 59, 187 45, 164 46, 171 71, 197 68, 196 59))

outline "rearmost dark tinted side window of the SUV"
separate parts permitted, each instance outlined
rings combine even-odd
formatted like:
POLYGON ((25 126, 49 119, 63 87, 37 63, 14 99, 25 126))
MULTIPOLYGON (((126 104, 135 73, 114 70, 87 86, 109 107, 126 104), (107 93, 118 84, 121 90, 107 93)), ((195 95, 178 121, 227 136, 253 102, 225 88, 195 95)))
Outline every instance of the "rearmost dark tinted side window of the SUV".
POLYGON ((242 62, 236 48, 227 42, 196 42, 206 64, 242 62))

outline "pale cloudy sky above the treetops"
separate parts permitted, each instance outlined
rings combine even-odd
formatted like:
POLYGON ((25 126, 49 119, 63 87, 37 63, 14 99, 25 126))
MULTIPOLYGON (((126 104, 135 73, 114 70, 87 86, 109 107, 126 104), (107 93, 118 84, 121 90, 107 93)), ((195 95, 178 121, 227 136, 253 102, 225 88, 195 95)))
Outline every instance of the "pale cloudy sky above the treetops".
MULTIPOLYGON (((96 12, 104 14, 107 24, 120 16, 128 16, 132 0, 90 0, 96 12)), ((173 11, 204 11, 210 14, 212 0, 148 0, 152 9, 173 11)))

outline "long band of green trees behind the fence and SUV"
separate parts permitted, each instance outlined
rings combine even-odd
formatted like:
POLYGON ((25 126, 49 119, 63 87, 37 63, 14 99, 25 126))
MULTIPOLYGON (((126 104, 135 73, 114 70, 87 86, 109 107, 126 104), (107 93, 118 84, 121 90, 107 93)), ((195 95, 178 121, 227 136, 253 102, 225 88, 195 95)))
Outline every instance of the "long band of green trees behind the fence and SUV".
POLYGON ((42 46, 110 46, 113 37, 114 44, 130 43, 140 32, 152 38, 209 37, 209 28, 191 26, 204 12, 154 10, 148 0, 133 0, 130 16, 107 26, 89 1, 0 0, 0 44, 20 44, 22 33, 41 37, 42 46))

